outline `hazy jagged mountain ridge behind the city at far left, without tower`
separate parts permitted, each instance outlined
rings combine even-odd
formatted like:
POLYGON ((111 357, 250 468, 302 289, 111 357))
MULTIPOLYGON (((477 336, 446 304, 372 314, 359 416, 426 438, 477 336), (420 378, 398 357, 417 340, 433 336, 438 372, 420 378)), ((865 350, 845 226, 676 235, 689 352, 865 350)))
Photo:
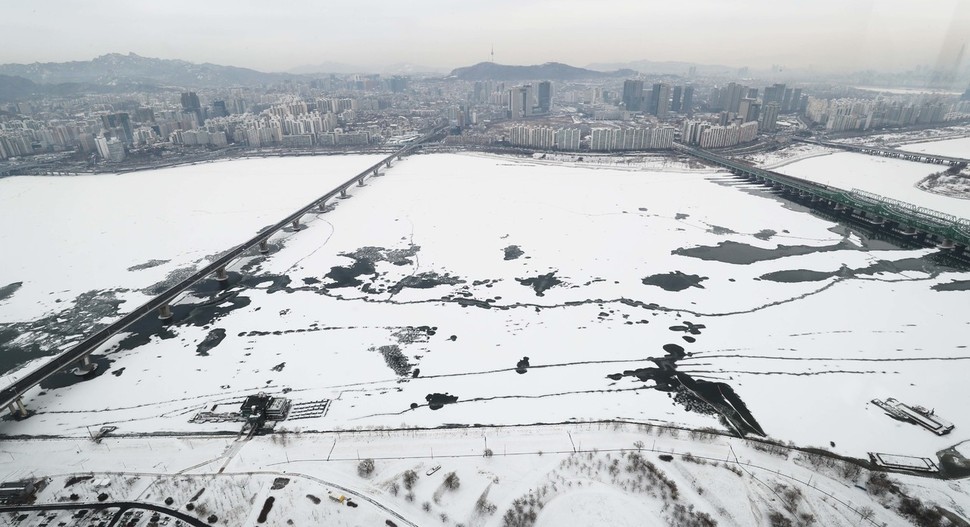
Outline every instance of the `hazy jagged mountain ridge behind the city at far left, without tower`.
POLYGON ((110 53, 88 61, 3 64, 0 65, 0 74, 23 77, 42 84, 153 84, 186 87, 251 86, 295 78, 287 73, 263 73, 234 66, 154 59, 134 53, 110 53))

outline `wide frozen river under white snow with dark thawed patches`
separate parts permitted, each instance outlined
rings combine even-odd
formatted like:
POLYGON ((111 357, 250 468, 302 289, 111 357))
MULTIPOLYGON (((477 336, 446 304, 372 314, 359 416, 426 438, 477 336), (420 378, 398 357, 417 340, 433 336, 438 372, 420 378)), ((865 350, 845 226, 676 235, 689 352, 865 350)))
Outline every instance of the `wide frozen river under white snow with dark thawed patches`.
MULTIPOLYGON (((106 299, 144 298, 166 273, 333 186, 315 174, 334 169, 343 180, 372 162, 300 161, 303 175, 289 184, 259 176, 286 172, 263 161, 197 174, 212 178, 219 197, 207 199, 224 208, 199 199, 169 209, 167 228, 182 234, 168 245, 137 235, 106 244, 113 230, 130 232, 121 221, 128 216, 88 218, 100 229, 77 236, 99 238, 58 244, 79 260, 100 245, 93 259, 118 261, 79 262, 83 287, 49 285, 47 268, 27 258, 49 258, 58 245, 24 253, 10 280, 24 285, 0 301, 4 353, 25 340, 40 348, 70 340, 56 321, 74 315, 47 291, 65 302, 93 291, 89 304, 108 320, 125 304, 106 299), (250 209, 265 216, 243 223, 250 209), (187 233, 214 210, 236 220, 215 230, 238 234, 191 242, 187 233), (186 248, 176 249, 182 238, 186 248)), ((112 178, 64 181, 95 195, 120 181, 112 178)), ((35 192, 31 181, 61 180, 20 182, 25 210, 45 203, 31 196, 52 192, 35 192)), ((143 188, 114 201, 151 194, 143 188)), ((139 214, 151 224, 152 214, 139 214)), ((55 231, 70 221, 32 218, 55 231)), ((94 411, 128 432, 212 431, 221 425, 188 419, 254 390, 290 393, 295 404, 333 401, 326 416, 299 424, 310 429, 621 418, 764 432, 864 456, 928 454, 958 439, 886 417, 870 404, 877 397, 933 407, 958 430, 970 426, 953 396, 968 373, 970 274, 938 267, 929 250, 866 240, 727 174, 419 155, 306 224, 274 239, 268 257, 231 269, 228 289, 201 284, 186 295, 171 325, 149 320, 113 339, 99 377, 52 378, 28 394, 43 418, 0 424, 0 432, 83 434, 94 411), (111 393, 126 394, 124 404, 105 403, 111 393)))

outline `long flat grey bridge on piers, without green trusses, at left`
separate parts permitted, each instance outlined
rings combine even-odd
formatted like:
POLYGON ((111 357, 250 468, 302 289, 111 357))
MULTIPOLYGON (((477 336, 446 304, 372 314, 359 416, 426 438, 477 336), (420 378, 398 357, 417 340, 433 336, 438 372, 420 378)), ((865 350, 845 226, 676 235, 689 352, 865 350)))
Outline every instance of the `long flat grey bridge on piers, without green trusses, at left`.
POLYGON ((347 197, 347 192, 352 187, 364 186, 365 179, 380 175, 381 169, 390 168, 394 161, 400 160, 404 156, 413 152, 415 149, 420 148, 423 143, 426 143, 440 134, 442 130, 443 127, 436 127, 422 137, 404 146, 400 150, 392 153, 384 159, 381 159, 374 165, 366 168, 361 173, 341 183, 330 192, 327 192, 323 196, 311 201, 300 210, 297 210, 293 214, 283 218, 275 225, 263 229, 257 233, 256 236, 253 236, 232 249, 229 249, 205 267, 199 269, 188 278, 185 278, 181 282, 170 287, 162 294, 137 307, 132 312, 121 317, 118 321, 89 336, 67 351, 54 356, 42 366, 27 373, 23 377, 20 377, 9 386, 4 387, 2 390, 0 390, 0 408, 7 407, 15 413, 26 415, 27 412, 23 403, 23 395, 28 390, 34 386, 37 386, 52 375, 60 373, 65 369, 71 368, 72 366, 74 367, 74 372, 78 375, 83 376, 91 373, 97 366, 90 360, 91 353, 93 353, 99 346, 104 344, 109 338, 124 331, 142 317, 152 313, 157 313, 158 317, 163 320, 171 318, 172 310, 170 304, 183 291, 210 277, 214 277, 220 282, 228 280, 229 275, 226 273, 226 267, 228 265, 235 262, 239 258, 252 253, 253 250, 258 250, 263 254, 269 252, 269 239, 271 236, 273 236, 273 234, 289 225, 292 225, 294 229, 299 230, 300 220, 303 218, 303 216, 313 212, 326 212, 327 203, 330 200, 338 196, 347 197))

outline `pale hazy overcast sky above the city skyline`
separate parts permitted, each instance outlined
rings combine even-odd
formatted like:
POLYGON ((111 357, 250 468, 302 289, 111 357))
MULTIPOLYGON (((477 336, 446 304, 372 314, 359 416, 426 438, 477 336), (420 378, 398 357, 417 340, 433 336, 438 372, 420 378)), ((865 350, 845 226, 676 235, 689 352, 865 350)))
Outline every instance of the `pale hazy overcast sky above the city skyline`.
POLYGON ((503 64, 901 70, 952 63, 970 40, 970 0, 46 0, 2 12, 0 63, 132 51, 263 71, 452 68, 493 44, 503 64))

